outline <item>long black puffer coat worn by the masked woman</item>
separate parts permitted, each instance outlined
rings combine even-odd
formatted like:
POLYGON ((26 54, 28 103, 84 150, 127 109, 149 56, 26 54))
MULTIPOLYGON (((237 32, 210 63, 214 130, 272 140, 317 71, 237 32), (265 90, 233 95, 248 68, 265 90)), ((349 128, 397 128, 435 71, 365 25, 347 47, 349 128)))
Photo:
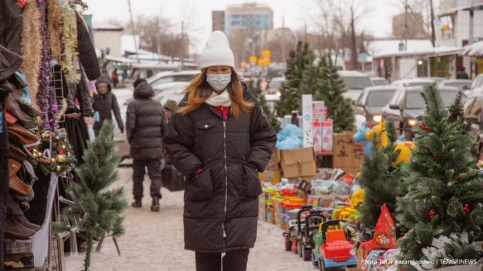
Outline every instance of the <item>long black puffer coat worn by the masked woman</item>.
POLYGON ((255 244, 257 196, 262 193, 257 171, 270 160, 276 134, 246 86, 244 99, 255 107, 238 119, 228 114, 223 121, 216 108, 204 103, 170 120, 164 143, 171 162, 186 176, 188 250, 220 253, 255 244), (204 170, 195 177, 199 168, 204 170))

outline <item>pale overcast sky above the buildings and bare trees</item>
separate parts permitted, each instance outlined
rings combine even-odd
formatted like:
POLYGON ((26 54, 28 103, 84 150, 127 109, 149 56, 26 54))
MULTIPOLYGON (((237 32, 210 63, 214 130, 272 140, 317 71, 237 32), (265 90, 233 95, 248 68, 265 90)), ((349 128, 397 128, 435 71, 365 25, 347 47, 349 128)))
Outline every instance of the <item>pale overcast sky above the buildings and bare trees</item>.
MULTIPOLYGON (((94 22, 107 22, 110 19, 128 21, 128 0, 84 0, 88 3, 87 14, 93 14, 94 22)), ((282 26, 282 17, 285 14, 285 26, 293 30, 303 29, 304 22, 311 29, 310 10, 314 10, 313 3, 317 0, 260 0, 273 9, 273 23, 275 28, 282 26)), ((323 1, 323 0, 322 0, 323 1)), ((357 2, 357 0, 354 0, 357 2)), ((376 37, 391 35, 393 15, 402 12, 400 0, 360 0, 368 6, 368 14, 362 16, 356 26, 356 31, 365 30, 376 37)), ((131 0, 132 12, 137 18, 139 14, 159 15, 169 18, 172 23, 179 26, 181 21, 188 19, 186 10, 196 10, 191 17, 191 28, 196 29, 196 42, 193 50, 200 51, 211 32, 211 11, 224 10, 226 6, 241 4, 244 0, 131 0)), ((253 2, 253 1, 250 1, 253 2)), ((313 13, 312 13, 313 14, 313 13)), ((349 16, 349 12, 347 13, 349 16)), ((193 34, 193 33, 190 33, 193 34)))

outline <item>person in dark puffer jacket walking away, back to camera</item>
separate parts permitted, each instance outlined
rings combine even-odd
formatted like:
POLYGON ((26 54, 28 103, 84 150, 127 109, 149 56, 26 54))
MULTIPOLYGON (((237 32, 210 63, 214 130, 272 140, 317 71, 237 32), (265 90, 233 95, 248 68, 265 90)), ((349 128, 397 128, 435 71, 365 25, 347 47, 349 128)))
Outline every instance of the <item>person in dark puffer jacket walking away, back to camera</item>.
POLYGON ((135 201, 132 207, 141 208, 143 198, 144 169, 148 168, 151 179, 151 210, 159 212, 161 199, 161 155, 163 136, 166 131, 166 113, 161 103, 152 100, 154 90, 146 81, 140 81, 134 90, 134 101, 126 112, 126 134, 132 157, 132 181, 135 201))

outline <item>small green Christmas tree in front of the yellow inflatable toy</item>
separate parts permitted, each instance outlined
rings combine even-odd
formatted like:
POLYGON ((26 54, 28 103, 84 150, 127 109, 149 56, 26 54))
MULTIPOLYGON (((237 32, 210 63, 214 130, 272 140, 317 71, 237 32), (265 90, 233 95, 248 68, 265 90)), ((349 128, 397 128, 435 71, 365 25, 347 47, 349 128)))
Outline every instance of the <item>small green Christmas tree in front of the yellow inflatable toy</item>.
POLYGON ((375 148, 372 157, 365 157, 361 177, 358 179, 364 188, 364 205, 360 210, 359 227, 362 232, 374 230, 384 203, 389 212, 395 214, 400 184, 406 177, 404 164, 397 163, 400 151, 395 150, 397 133, 394 123, 386 121, 385 126, 388 139, 386 147, 375 148))

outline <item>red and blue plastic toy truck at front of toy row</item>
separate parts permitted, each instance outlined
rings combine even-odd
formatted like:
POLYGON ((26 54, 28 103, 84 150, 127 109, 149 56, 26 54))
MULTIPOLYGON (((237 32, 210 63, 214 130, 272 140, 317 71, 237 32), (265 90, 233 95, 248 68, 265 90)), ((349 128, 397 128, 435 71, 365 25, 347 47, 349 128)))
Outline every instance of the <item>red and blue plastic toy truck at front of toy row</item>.
MULTIPOLYGON (((332 220, 322 223, 319 226, 321 233, 322 245, 319 245, 319 255, 317 264, 319 270, 324 271, 328 268, 337 268, 343 266, 356 266, 357 257, 351 254, 352 241, 348 231, 341 225, 341 220, 332 220), (336 230, 329 230, 334 226, 340 227, 336 230)), ((314 254, 314 257, 317 257, 314 254)))

